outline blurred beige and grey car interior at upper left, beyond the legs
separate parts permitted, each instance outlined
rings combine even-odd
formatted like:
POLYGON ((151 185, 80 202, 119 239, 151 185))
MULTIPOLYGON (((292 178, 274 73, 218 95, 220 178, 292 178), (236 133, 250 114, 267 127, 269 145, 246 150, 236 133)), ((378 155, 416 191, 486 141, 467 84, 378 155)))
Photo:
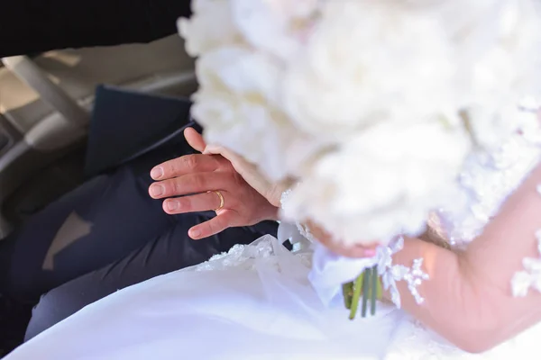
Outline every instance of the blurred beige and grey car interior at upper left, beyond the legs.
POLYGON ((149 44, 2 58, 0 239, 81 184, 96 86, 187 97, 193 59, 179 36, 149 44))

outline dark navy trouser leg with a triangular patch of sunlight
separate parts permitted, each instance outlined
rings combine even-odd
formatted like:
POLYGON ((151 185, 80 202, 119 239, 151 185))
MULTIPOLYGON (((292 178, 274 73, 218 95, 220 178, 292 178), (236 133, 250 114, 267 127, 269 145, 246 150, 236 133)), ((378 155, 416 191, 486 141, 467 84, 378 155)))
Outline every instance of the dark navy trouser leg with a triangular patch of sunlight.
POLYGON ((42 293, 125 257, 174 219, 124 167, 54 202, 0 242, 0 293, 37 302, 42 293))

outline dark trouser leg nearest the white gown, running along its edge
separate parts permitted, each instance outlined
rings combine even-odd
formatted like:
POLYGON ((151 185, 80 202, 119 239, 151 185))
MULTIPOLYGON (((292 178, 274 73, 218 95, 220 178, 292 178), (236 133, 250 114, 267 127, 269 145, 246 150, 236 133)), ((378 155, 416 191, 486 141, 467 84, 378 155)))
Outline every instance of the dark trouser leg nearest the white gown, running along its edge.
POLYGON ((215 254, 227 251, 235 244, 251 243, 265 234, 275 236, 278 226, 275 222, 262 222, 253 227, 226 229, 214 237, 202 240, 188 238, 188 229, 208 220, 208 217, 208 214, 179 215, 176 225, 130 256, 43 295, 41 302, 32 311, 25 340, 124 287, 197 265, 215 254))

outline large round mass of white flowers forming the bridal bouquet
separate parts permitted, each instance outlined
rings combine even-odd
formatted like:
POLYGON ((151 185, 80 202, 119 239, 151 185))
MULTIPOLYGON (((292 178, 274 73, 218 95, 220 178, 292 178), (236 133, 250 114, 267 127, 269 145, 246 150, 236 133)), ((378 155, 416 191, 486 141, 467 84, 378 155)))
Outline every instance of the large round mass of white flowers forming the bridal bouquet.
POLYGON ((298 182, 284 217, 345 245, 418 235, 430 211, 460 203, 464 159, 519 130, 509 116, 541 79, 535 0, 192 7, 179 31, 207 142, 298 182))

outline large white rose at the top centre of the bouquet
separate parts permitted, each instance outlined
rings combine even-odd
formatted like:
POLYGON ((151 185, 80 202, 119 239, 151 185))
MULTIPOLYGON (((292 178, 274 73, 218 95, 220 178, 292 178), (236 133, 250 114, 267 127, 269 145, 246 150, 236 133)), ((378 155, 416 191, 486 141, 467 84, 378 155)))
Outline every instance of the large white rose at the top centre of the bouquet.
POLYGON ((394 2, 335 0, 293 61, 283 103, 298 127, 348 136, 379 121, 455 109, 455 64, 437 17, 394 2))

